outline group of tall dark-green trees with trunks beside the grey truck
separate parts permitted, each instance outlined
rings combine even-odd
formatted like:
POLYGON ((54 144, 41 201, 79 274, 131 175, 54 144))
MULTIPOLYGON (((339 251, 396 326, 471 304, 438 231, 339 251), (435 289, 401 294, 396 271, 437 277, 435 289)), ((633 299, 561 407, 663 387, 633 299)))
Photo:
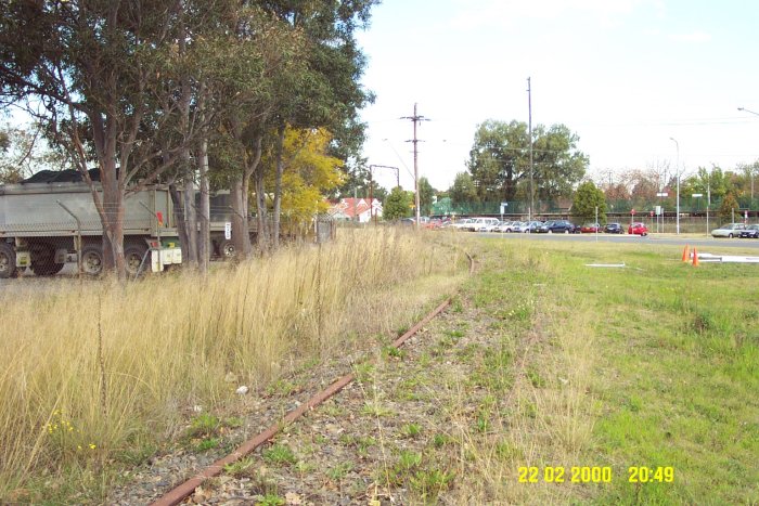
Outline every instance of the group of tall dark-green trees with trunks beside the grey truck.
POLYGON ((124 198, 159 179, 183 189, 188 238, 190 193, 213 180, 233 195, 235 239, 247 237, 250 193, 258 215, 274 217, 275 246, 286 129, 330 132, 322 148, 342 167, 360 158, 358 111, 372 95, 356 31, 375 3, 0 2, 0 106, 27 104, 89 184, 87 170, 100 169, 92 194, 119 272, 124 198), (265 153, 273 163, 261 165, 265 153))

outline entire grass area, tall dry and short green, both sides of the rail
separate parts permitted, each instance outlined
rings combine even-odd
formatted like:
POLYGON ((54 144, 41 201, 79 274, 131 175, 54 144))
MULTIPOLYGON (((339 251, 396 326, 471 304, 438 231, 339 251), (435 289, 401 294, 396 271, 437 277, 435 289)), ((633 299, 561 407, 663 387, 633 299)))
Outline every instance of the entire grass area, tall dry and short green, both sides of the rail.
MULTIPOLYGON (((0 295, 0 502, 98 503, 194 405, 234 413, 237 384, 396 335, 458 291, 430 351, 383 349, 389 377, 411 367, 388 402, 424 412, 384 485, 409 503, 759 503, 759 265, 681 252, 362 231, 205 280, 0 295)), ((393 425, 376 411, 356 416, 393 425)))

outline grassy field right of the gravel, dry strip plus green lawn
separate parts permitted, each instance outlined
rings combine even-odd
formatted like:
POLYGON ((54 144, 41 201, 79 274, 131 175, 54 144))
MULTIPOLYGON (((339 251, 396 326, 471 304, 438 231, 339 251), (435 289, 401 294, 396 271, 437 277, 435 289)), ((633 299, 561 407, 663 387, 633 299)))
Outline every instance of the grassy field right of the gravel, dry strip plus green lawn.
POLYGON ((509 388, 488 386, 498 436, 459 438, 476 476, 455 497, 759 502, 759 265, 693 268, 642 245, 476 247, 465 294, 503 328, 493 349, 509 360, 488 374, 509 388))

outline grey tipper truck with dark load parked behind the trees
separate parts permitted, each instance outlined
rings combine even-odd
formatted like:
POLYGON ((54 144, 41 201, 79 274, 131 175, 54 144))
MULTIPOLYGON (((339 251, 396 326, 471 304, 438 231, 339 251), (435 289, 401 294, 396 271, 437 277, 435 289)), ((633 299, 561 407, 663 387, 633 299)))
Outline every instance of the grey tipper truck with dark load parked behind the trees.
MULTIPOLYGON (((103 229, 90 187, 70 173, 75 171, 65 172, 69 173, 0 184, 0 278, 25 269, 50 276, 66 262, 77 262, 85 274, 102 273, 103 229)), ((124 252, 128 274, 181 263, 172 211, 167 187, 156 185, 127 195, 124 252)))

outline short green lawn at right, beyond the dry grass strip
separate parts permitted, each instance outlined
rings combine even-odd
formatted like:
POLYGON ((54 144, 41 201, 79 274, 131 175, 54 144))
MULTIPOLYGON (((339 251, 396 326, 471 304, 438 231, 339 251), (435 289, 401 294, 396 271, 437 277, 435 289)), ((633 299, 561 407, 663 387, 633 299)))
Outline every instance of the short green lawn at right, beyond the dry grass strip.
MULTIPOLYGON (((759 267, 694 269, 673 247, 549 248, 553 303, 581 300, 597 315, 584 332, 596 340, 600 415, 576 465, 610 464, 615 479, 594 501, 759 502, 759 267), (610 257, 630 268, 584 265, 610 257), (630 483, 639 466, 673 467, 674 480, 630 483)), ((535 388, 548 380, 527 375, 535 388)))

